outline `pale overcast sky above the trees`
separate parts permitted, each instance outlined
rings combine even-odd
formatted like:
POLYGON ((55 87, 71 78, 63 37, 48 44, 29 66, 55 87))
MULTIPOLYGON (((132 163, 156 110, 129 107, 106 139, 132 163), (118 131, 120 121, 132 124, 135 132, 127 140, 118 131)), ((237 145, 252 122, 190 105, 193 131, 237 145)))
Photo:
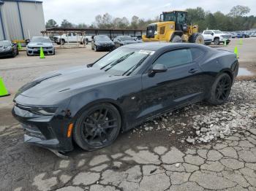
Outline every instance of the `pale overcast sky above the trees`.
POLYGON ((163 11, 202 7, 205 11, 221 11, 225 14, 236 5, 248 6, 248 15, 256 15, 256 0, 42 0, 45 22, 54 19, 60 25, 64 19, 71 23, 90 25, 97 15, 108 12, 113 17, 133 15, 145 19, 154 18, 163 11), (157 2, 157 3, 156 3, 157 2))

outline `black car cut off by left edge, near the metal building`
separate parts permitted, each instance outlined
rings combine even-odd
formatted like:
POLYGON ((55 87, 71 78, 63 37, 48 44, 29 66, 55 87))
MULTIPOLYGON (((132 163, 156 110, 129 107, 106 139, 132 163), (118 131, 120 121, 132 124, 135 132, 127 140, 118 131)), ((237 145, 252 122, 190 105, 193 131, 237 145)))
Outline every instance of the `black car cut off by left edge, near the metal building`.
POLYGON ((17 44, 12 43, 9 40, 0 41, 0 57, 15 57, 16 55, 18 55, 18 53, 19 52, 17 44))

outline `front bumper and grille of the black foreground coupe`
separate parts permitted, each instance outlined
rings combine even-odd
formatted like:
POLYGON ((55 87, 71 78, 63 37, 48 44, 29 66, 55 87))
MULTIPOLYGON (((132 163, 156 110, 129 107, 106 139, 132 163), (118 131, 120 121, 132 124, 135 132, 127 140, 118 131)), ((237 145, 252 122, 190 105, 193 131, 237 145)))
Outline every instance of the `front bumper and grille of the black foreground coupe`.
POLYGON ((20 122, 25 131, 24 142, 60 152, 68 152, 73 149, 72 138, 67 138, 67 127, 70 120, 61 116, 34 114, 24 108, 16 104, 12 109, 12 115, 20 122))

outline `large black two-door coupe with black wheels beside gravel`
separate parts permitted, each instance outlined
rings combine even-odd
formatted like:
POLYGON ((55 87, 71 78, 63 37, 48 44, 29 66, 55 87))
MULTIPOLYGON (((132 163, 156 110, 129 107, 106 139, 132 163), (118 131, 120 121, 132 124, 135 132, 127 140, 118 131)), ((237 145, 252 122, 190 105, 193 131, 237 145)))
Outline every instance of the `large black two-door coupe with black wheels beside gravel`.
POLYGON ((206 100, 223 104, 238 74, 233 52, 200 44, 120 47, 87 66, 52 72, 15 95, 25 142, 67 152, 108 146, 121 131, 206 100))

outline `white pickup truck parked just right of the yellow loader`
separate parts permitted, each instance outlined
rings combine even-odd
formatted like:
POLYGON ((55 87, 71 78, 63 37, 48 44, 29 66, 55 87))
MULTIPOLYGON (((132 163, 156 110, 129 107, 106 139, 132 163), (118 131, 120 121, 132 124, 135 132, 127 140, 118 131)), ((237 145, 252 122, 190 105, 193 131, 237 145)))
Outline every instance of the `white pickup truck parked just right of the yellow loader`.
POLYGON ((226 34, 225 32, 219 30, 206 30, 203 31, 204 39, 211 39, 211 42, 214 42, 215 45, 219 45, 221 42, 230 43, 231 35, 226 34))

